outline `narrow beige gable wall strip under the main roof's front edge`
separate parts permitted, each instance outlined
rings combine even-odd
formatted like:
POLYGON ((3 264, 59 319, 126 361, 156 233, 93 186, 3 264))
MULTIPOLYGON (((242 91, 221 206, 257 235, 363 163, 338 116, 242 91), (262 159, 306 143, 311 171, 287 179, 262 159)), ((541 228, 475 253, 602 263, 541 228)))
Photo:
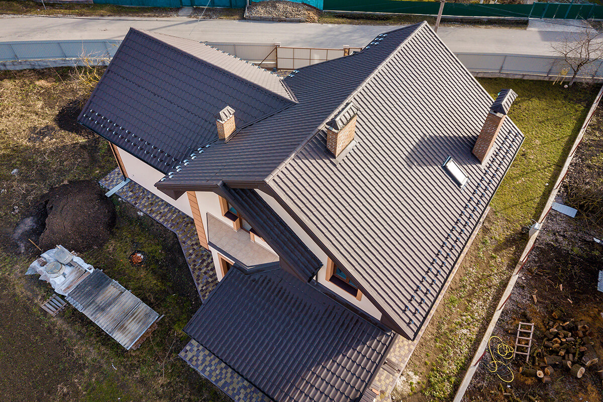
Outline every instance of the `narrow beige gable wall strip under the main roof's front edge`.
POLYGON ((305 243, 305 245, 312 251, 312 253, 314 253, 315 256, 317 256, 321 260, 321 262, 323 262, 323 267, 320 269, 320 271, 318 271, 318 283, 322 284, 324 287, 327 287, 327 289, 329 289, 333 293, 341 296, 342 298, 349 301, 351 304, 363 310, 364 312, 367 312, 374 318, 381 319, 381 312, 377 309, 377 307, 374 306, 373 303, 371 303, 370 300, 368 300, 367 297, 362 295, 361 300, 356 300, 353 295, 350 295, 348 292, 341 289, 341 287, 336 286, 332 282, 326 280, 327 254, 324 253, 324 251, 320 247, 318 247, 317 243, 315 243, 314 240, 312 240, 310 236, 308 236, 306 231, 304 231, 300 227, 300 225, 298 225, 297 222, 295 222, 294 219, 291 218, 291 216, 285 211, 285 209, 283 209, 283 207, 281 207, 280 204, 277 203, 276 199, 274 199, 267 193, 261 192, 260 190, 256 191, 264 199, 264 201, 266 201, 268 205, 277 214, 279 214, 280 218, 283 219, 283 221, 285 221, 287 225, 289 225, 291 230, 293 230, 295 234, 297 234, 297 236, 301 239, 302 242, 305 243))

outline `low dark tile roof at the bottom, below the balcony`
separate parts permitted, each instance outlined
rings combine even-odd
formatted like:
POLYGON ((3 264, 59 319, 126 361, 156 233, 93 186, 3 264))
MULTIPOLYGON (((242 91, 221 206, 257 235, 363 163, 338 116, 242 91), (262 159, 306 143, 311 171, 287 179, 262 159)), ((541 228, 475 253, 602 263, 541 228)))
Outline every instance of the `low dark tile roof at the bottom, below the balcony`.
POLYGON ((394 338, 282 269, 231 269, 185 332, 277 402, 358 400, 394 338))

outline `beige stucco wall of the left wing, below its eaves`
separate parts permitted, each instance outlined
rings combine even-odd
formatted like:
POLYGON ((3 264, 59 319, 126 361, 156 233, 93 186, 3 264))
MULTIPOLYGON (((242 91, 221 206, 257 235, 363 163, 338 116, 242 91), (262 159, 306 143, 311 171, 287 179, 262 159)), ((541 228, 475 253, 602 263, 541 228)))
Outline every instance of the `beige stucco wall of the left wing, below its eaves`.
POLYGON ((136 181, 140 186, 145 187, 145 189, 159 196, 159 198, 167 201, 169 204, 172 204, 177 209, 186 213, 186 215, 192 217, 191 204, 189 204, 186 193, 180 196, 180 198, 174 199, 161 192, 155 187, 155 183, 164 176, 162 172, 153 168, 153 166, 142 162, 142 160, 124 151, 124 149, 118 148, 118 152, 124 163, 125 172, 128 174, 130 180, 136 181))

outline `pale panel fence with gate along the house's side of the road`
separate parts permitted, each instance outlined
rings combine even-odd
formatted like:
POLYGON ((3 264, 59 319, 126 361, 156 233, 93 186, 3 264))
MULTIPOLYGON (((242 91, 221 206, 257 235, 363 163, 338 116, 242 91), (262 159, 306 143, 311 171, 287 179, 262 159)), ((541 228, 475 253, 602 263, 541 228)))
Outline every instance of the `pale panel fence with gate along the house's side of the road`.
MULTIPOLYGON (((98 60, 110 58, 115 54, 119 43, 119 40, 0 42, 0 69, 81 64, 83 54, 98 60)), ((361 50, 349 46, 344 46, 343 49, 291 48, 280 46, 279 43, 207 42, 207 45, 267 69, 298 69, 361 50)), ((456 55, 469 71, 478 76, 554 79, 563 72, 571 75, 566 63, 555 56, 479 53, 456 55)), ((603 80, 603 61, 593 63, 579 77, 603 80)))

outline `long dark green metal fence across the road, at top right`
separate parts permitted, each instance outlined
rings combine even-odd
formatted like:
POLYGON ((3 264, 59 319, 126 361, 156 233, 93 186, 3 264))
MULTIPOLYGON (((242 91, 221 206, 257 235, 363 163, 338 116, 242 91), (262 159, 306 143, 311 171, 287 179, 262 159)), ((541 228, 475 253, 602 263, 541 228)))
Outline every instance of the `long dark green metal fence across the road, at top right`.
MULTIPOLYGON (((438 1, 380 0, 324 0, 324 10, 361 13, 400 13, 437 15, 438 1)), ((555 19, 603 19, 603 5, 573 3, 533 4, 444 4, 444 16, 450 17, 513 17, 555 19)))

